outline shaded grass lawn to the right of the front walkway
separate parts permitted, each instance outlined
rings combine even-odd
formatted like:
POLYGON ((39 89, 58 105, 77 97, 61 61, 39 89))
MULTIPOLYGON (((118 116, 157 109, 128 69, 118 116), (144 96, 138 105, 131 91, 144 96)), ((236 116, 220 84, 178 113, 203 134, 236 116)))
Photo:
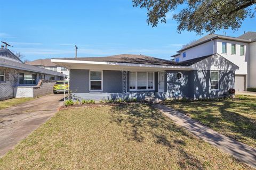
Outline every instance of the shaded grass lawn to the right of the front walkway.
POLYGON ((236 95, 232 100, 167 102, 166 104, 215 131, 256 148, 255 96, 236 95))

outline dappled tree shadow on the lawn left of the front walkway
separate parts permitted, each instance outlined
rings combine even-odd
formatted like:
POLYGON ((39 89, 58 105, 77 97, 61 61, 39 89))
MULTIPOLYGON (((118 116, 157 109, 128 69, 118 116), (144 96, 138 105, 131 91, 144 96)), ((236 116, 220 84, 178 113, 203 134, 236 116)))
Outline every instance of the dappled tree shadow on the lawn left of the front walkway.
POLYGON ((194 137, 176 126, 169 118, 153 107, 119 105, 113 106, 110 113, 110 122, 123 126, 125 128, 124 135, 128 140, 143 142, 144 140, 153 139, 158 145, 167 147, 170 152, 178 151, 180 167, 204 169, 203 162, 183 149, 186 147, 186 142, 182 139, 194 139, 194 137), (145 133, 149 133, 149 135, 145 135, 145 133))

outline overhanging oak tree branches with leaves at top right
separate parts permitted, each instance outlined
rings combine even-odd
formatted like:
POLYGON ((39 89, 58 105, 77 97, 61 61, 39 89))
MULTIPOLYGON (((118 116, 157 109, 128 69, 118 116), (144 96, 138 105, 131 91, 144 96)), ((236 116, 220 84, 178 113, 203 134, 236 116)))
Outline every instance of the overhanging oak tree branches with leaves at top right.
POLYGON ((159 21, 166 23, 166 13, 175 11, 179 5, 185 6, 173 14, 178 22, 177 30, 198 34, 228 28, 237 30, 245 18, 254 17, 255 4, 256 0, 133 0, 133 6, 147 8, 147 23, 153 27, 159 21))

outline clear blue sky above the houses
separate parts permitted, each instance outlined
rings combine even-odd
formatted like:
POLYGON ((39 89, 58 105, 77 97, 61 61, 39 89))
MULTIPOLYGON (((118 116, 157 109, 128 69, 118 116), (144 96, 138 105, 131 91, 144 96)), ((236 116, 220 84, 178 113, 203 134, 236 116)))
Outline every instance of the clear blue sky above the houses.
MULTIPOLYGON (((132 0, 0 2, 0 40, 27 60, 74 57, 75 44, 78 57, 144 54, 170 59, 183 44, 202 37, 177 33, 170 14, 166 24, 152 28, 146 23, 147 11, 133 7, 132 0)), ((248 18, 238 31, 224 31, 239 36, 256 31, 255 25, 256 19, 248 18)))

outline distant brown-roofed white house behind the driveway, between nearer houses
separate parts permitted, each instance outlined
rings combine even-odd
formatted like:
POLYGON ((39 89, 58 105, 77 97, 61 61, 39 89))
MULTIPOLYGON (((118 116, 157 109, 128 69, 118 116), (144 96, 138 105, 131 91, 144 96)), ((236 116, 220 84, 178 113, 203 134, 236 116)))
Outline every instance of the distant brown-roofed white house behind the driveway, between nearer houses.
POLYGON ((67 80, 69 80, 69 70, 66 69, 65 67, 61 67, 57 64, 52 63, 50 58, 38 59, 35 61, 26 62, 26 64, 35 65, 35 66, 38 66, 38 67, 41 67, 44 69, 48 69, 48 70, 52 70, 52 71, 58 71, 60 73, 67 75, 67 80))

